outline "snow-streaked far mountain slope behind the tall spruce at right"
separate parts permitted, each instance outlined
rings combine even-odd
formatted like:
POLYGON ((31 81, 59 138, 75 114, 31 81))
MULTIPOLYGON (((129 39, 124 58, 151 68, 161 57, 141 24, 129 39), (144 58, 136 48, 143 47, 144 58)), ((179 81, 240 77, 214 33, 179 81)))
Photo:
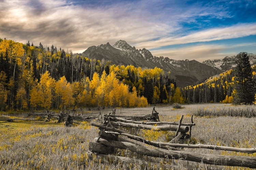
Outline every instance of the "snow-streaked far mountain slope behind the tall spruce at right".
MULTIPOLYGON (((256 64, 256 54, 248 53, 249 61, 251 65, 256 64)), ((222 60, 205 60, 202 63, 209 65, 213 68, 218 68, 222 71, 227 71, 230 69, 236 68, 237 64, 235 63, 236 56, 226 56, 222 60)))

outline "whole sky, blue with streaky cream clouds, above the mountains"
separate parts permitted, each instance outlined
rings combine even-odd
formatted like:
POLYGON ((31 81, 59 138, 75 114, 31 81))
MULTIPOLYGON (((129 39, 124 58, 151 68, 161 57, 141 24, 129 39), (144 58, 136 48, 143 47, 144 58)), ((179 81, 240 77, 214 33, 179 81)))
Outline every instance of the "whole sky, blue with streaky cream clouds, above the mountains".
POLYGON ((0 0, 0 38, 82 53, 122 39, 174 60, 256 54, 255 0, 0 0))

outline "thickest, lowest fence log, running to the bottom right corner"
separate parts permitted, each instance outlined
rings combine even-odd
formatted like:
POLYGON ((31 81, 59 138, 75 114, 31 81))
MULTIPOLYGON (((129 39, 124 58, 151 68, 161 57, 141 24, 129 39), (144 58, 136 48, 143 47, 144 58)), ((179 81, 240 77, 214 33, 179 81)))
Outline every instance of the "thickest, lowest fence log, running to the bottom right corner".
POLYGON ((128 142, 120 142, 114 140, 100 139, 99 143, 105 146, 110 146, 120 149, 128 149, 137 154, 162 157, 170 159, 184 159, 193 162, 199 162, 210 165, 221 165, 221 166, 237 166, 237 167, 248 167, 256 168, 256 157, 250 156, 228 156, 228 155, 209 155, 201 154, 188 151, 170 151, 163 149, 150 149, 146 147, 136 146, 128 142))

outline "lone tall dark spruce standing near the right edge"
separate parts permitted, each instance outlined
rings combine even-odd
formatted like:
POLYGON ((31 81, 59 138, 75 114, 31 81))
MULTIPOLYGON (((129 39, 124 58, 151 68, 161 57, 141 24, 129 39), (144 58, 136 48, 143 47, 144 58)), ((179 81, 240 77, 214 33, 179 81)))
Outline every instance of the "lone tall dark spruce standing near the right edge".
POLYGON ((233 103, 252 104, 255 100, 255 90, 252 79, 252 68, 247 53, 239 53, 236 56, 236 64, 233 103))

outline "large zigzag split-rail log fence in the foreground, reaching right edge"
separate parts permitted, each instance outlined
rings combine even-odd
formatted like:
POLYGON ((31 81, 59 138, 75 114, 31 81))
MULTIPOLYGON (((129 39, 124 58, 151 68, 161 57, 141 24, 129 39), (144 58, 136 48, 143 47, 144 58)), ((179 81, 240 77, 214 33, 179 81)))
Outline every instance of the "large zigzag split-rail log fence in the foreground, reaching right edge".
MULTIPOLYGON (((153 111, 155 111, 155 108, 153 108, 153 111)), ((99 136, 94 139, 95 142, 89 142, 88 153, 91 154, 91 152, 94 152, 102 155, 112 154, 115 149, 128 149, 134 153, 151 157, 183 159, 210 165, 256 168, 256 157, 253 156, 211 155, 181 150, 180 148, 205 148, 212 150, 242 152, 248 154, 256 153, 256 148, 247 149, 202 144, 190 145, 177 143, 181 137, 191 137, 191 127, 195 125, 193 122, 193 116, 191 116, 191 123, 182 123, 182 119, 183 116, 179 122, 161 122, 159 121, 157 112, 152 112, 150 116, 145 115, 136 117, 115 115, 115 112, 113 111, 112 114, 110 113, 109 115, 104 115, 103 124, 91 123, 91 125, 98 127, 100 132, 99 136), (155 121, 141 122, 138 120, 155 121), (119 129, 121 126, 136 129, 149 129, 153 131, 175 131, 176 134, 175 137, 168 143, 154 142, 119 129), (189 132, 189 134, 187 134, 187 132, 189 132), (121 136, 126 136, 133 140, 128 140, 122 138, 121 136), (156 149, 152 149, 152 147, 148 148, 144 144, 154 146, 156 149)), ((111 156, 113 157, 114 155, 111 156)), ((117 160, 129 159, 127 157, 115 157, 117 160)), ((140 161, 136 159, 134 160, 133 158, 130 159, 135 162, 140 161)))

